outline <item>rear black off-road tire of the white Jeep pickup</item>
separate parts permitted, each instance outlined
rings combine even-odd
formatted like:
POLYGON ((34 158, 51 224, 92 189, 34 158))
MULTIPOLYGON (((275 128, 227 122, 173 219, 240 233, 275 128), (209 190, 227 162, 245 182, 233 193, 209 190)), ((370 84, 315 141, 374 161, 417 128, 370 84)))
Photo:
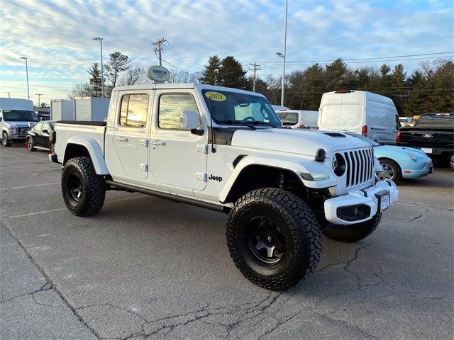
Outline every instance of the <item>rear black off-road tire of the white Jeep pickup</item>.
POLYGON ((70 159, 62 171, 62 195, 65 204, 76 216, 94 215, 101 210, 106 197, 106 183, 94 171, 92 159, 70 159), (79 198, 74 198, 74 186, 79 181, 79 198), (76 183, 76 184, 74 184, 76 183))

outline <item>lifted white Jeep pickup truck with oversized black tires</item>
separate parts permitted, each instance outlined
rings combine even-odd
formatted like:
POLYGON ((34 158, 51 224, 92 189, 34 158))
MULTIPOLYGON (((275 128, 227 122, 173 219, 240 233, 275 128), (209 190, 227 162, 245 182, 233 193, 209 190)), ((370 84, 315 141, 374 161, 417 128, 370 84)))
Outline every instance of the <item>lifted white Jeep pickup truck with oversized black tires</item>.
POLYGON ((322 233, 341 242, 367 237, 398 191, 377 180, 380 163, 358 138, 279 125, 253 92, 117 87, 105 123, 55 124, 50 159, 63 165, 62 196, 77 216, 98 212, 111 189, 228 213, 238 269, 281 290, 314 272, 322 233))

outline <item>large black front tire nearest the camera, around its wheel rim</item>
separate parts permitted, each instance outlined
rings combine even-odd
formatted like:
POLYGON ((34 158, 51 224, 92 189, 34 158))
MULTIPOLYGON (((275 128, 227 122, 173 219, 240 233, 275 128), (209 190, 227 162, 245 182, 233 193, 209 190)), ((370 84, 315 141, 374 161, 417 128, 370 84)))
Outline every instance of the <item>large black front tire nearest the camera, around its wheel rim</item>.
POLYGON ((256 285, 284 290, 308 278, 321 256, 321 231, 309 205, 278 188, 261 188, 241 197, 228 215, 227 244, 233 262, 256 285), (248 250, 250 221, 264 216, 276 222, 286 242, 282 258, 265 266, 248 250))

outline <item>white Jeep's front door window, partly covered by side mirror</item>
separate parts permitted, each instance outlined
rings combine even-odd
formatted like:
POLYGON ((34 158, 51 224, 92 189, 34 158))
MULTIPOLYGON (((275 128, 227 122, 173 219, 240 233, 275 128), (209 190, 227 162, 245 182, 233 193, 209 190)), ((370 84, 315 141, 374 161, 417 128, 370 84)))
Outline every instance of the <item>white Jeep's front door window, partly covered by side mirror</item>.
MULTIPOLYGON (((192 94, 162 94, 159 98, 157 125, 161 129, 179 130, 179 113, 187 110, 199 113, 192 94)), ((199 124, 201 124, 200 115, 199 124)))

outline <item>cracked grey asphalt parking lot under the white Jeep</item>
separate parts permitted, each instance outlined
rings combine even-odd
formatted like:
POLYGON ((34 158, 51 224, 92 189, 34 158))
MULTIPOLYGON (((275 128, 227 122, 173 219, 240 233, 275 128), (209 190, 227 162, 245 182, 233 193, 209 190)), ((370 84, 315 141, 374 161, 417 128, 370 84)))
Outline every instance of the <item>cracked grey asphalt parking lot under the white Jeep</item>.
POLYGON ((453 174, 399 184, 357 244, 323 237, 316 273, 285 292, 243 278, 226 215, 109 191, 75 217, 46 152, 0 149, 1 339, 448 339, 453 174))

